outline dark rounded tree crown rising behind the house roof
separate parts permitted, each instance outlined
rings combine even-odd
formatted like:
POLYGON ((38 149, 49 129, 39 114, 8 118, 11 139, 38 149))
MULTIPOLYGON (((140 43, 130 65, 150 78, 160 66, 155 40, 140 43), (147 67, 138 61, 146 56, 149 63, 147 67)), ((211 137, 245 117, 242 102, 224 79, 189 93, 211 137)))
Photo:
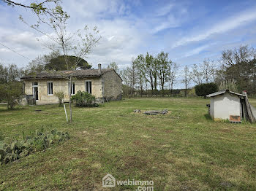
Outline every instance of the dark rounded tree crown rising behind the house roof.
POLYGON ((45 65, 46 70, 67 70, 68 66, 65 63, 65 59, 69 63, 69 66, 76 68, 80 67, 81 69, 91 69, 91 65, 85 61, 83 58, 76 58, 74 55, 67 55, 67 58, 64 55, 60 55, 56 58, 52 58, 49 63, 45 65), (80 62, 75 66, 75 61, 80 59, 80 62))

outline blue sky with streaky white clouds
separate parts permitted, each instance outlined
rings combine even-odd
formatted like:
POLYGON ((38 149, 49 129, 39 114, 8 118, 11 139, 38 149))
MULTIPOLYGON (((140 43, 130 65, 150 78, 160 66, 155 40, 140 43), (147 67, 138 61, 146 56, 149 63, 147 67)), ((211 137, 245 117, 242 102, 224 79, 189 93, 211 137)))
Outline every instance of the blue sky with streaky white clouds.
MULTIPOLYGON (((182 74, 184 66, 202 63, 205 58, 218 61, 222 50, 246 44, 256 47, 255 0, 63 0, 62 7, 70 15, 69 31, 98 27, 102 38, 86 58, 94 68, 115 61, 124 69, 139 54, 164 51, 182 74)), ((25 67, 38 55, 50 52, 42 43, 50 39, 22 23, 19 15, 34 22, 29 10, 0 1, 0 43, 6 46, 0 44, 0 63, 25 67)), ((42 30, 51 32, 46 26, 42 30)))

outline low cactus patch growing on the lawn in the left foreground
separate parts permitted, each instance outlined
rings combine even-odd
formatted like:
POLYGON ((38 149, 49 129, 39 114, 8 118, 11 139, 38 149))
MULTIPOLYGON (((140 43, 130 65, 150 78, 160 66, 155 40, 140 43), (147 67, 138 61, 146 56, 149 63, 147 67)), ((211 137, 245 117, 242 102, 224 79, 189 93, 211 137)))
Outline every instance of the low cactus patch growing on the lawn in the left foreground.
POLYGON ((26 157, 33 152, 45 150, 66 139, 69 139, 69 133, 50 130, 50 132, 31 133, 31 136, 24 136, 23 133, 22 140, 12 141, 11 144, 0 141, 0 165, 26 157))

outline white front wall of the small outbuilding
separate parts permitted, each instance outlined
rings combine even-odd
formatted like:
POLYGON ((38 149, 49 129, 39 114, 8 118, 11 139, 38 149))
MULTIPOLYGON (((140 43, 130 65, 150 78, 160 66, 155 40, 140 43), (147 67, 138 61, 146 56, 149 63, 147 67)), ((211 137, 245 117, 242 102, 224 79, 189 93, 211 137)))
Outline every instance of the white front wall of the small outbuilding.
MULTIPOLYGON (((212 106, 212 104, 211 104, 212 106)), ((240 116, 240 98, 238 95, 224 93, 214 97, 214 120, 229 120, 230 115, 240 116)))

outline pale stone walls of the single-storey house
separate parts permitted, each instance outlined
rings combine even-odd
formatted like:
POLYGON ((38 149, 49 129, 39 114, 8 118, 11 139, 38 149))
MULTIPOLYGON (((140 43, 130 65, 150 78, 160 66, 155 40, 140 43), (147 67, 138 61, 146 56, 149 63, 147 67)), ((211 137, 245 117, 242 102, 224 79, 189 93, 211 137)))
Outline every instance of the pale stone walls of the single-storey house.
MULTIPOLYGON (((64 101, 69 100, 69 81, 68 79, 23 79, 24 93, 34 95, 34 82, 37 82, 38 100, 36 104, 58 104, 59 100, 54 93, 64 92, 64 101), (53 82, 53 95, 48 95, 48 82, 53 82)), ((96 97, 97 102, 102 102, 104 95, 105 101, 121 100, 121 78, 116 71, 111 70, 99 77, 75 78, 75 93, 79 90, 86 91, 86 81, 91 82, 91 94, 96 97)))

